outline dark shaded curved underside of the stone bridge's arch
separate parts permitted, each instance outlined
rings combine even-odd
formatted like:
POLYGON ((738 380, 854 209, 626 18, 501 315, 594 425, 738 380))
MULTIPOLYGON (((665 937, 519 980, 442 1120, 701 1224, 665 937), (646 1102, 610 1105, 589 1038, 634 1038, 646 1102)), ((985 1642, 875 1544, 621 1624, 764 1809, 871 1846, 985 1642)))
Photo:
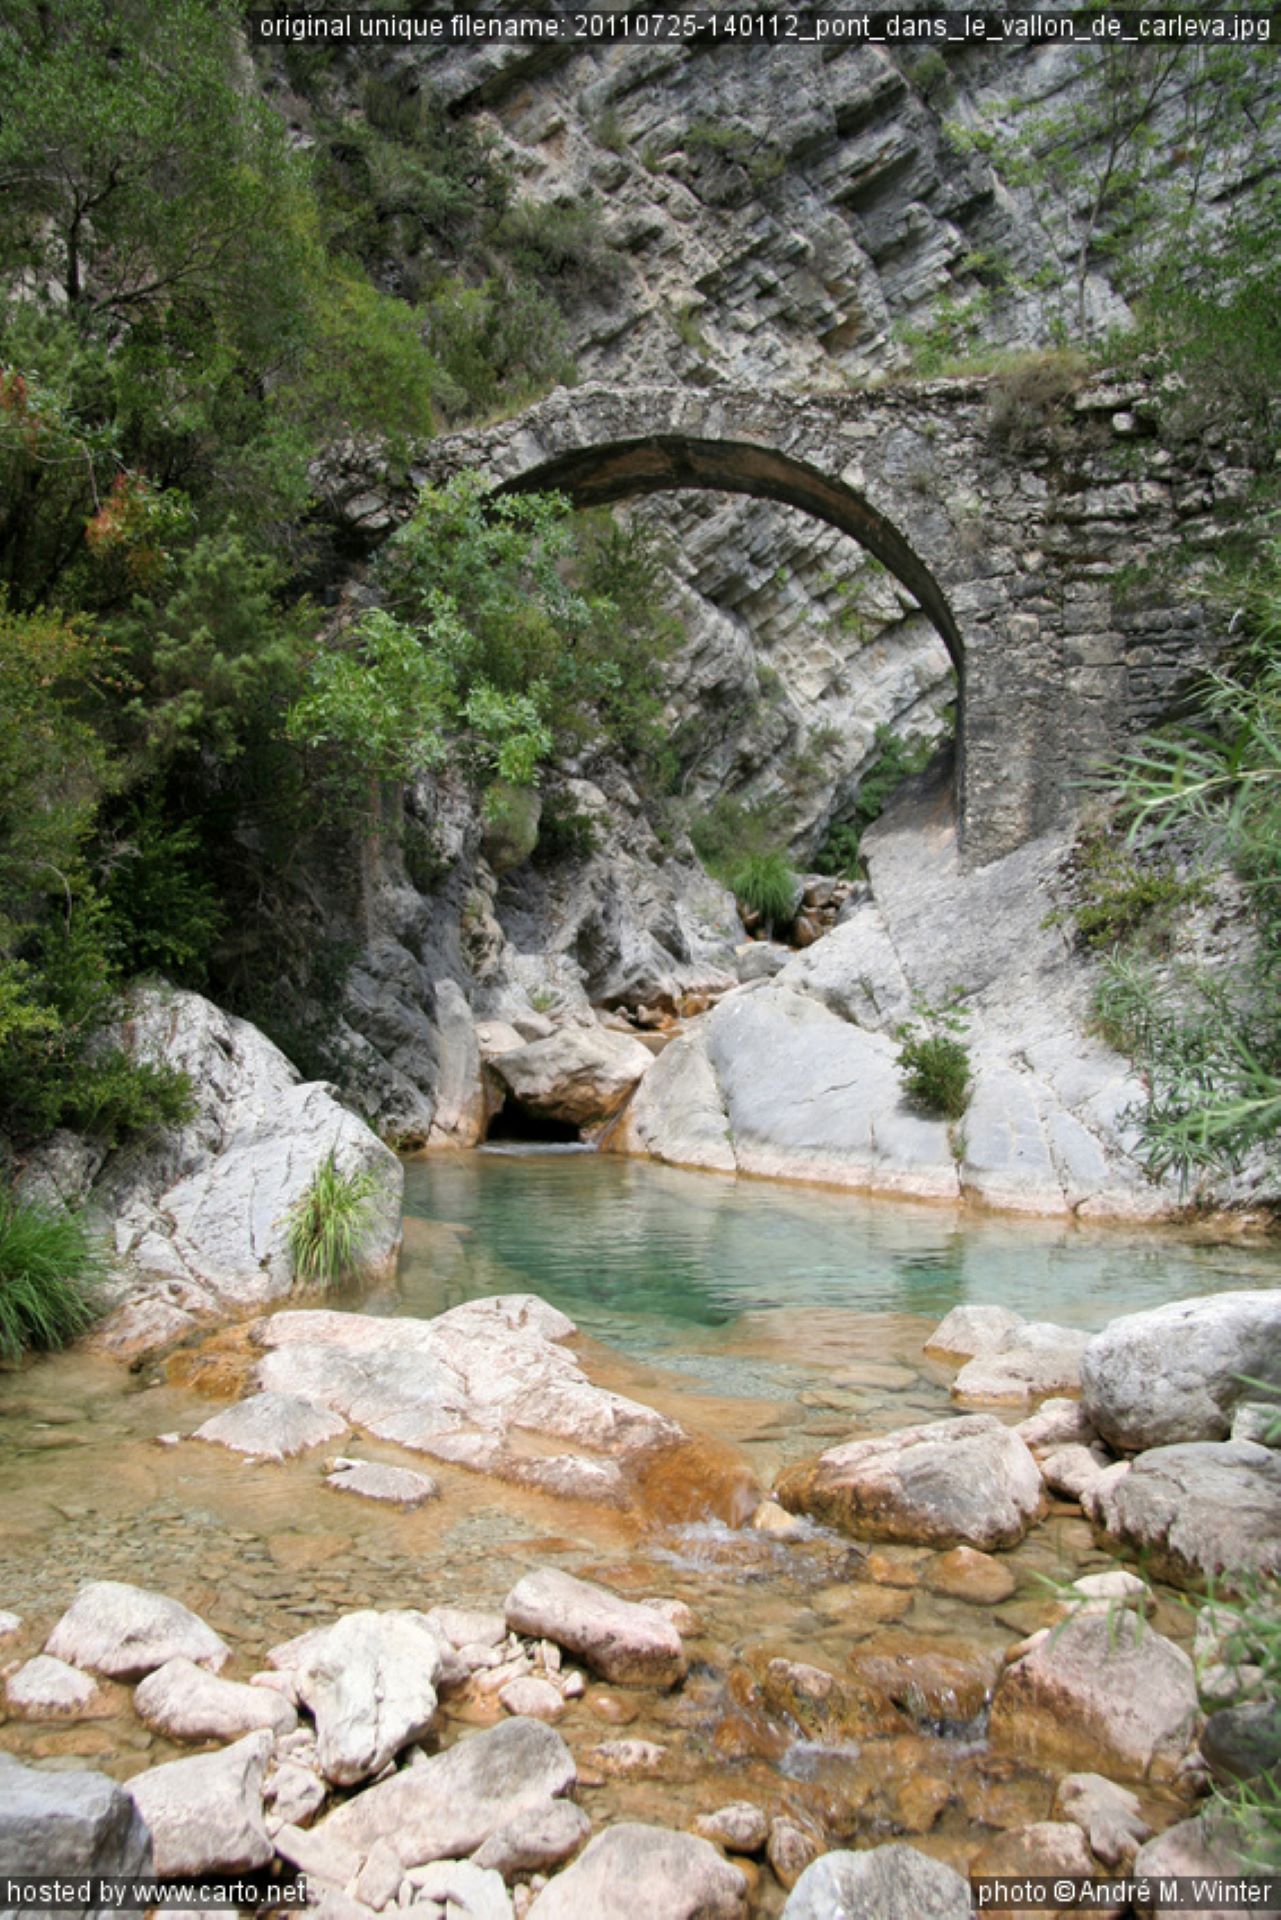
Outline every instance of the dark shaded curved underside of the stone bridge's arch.
POLYGON ((568 453, 505 480, 499 493, 567 493, 576 507, 609 507, 645 493, 697 488, 718 493, 753 493, 799 507, 814 520, 835 526, 872 553, 920 603, 947 647, 958 680, 964 672, 960 632, 947 597, 920 555, 897 526, 855 488, 810 467, 791 453, 747 440, 701 440, 689 434, 649 434, 568 453))

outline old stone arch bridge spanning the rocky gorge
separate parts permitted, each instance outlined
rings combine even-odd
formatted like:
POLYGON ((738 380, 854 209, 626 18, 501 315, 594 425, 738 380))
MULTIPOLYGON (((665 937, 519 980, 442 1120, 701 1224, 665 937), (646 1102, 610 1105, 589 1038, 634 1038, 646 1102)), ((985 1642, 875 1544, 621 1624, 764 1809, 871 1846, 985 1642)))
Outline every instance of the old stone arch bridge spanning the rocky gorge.
MULTIPOLYGON (((1248 482, 1223 455, 1170 451, 1143 388, 1037 401, 1001 376, 837 396, 557 388, 522 415, 432 442, 411 478, 440 484, 463 468, 578 505, 676 488, 753 493, 858 540, 956 664, 970 866, 1054 826, 1074 787, 1208 664, 1208 624, 1170 563, 1175 549, 1204 561, 1248 482)), ((401 507, 353 486, 340 511, 378 534, 401 507)))

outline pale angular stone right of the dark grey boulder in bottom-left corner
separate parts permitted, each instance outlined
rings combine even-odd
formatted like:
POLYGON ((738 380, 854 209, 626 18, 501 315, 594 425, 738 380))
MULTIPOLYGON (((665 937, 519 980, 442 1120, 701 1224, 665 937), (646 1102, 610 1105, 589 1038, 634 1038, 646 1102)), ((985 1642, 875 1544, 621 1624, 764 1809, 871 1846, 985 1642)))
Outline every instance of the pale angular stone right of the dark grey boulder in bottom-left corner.
POLYGON ((129 1782, 152 1832, 157 1874, 230 1874, 265 1866, 263 1772, 271 1734, 246 1734, 221 1753, 169 1761, 129 1782))

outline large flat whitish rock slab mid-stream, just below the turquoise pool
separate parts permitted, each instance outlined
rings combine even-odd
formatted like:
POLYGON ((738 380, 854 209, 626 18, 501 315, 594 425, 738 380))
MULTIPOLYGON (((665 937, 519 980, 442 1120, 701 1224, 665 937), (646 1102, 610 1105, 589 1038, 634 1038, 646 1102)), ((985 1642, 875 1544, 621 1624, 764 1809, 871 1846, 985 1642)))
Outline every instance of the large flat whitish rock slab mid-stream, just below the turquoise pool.
POLYGON ((572 1332, 534 1294, 469 1300, 432 1321, 275 1313, 254 1329, 267 1348, 257 1386, 436 1459, 620 1503, 632 1469, 684 1434, 593 1386, 563 1344, 572 1332), (526 1434, 555 1446, 534 1450, 526 1434))

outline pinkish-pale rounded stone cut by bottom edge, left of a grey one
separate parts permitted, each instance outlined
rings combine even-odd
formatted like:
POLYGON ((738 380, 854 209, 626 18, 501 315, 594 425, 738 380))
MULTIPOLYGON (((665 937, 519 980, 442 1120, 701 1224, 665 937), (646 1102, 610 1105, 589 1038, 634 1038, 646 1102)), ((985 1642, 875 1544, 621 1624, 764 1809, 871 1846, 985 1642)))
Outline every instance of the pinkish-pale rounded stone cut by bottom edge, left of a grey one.
POLYGON ((743 1920, 747 1880, 695 1834, 622 1820, 557 1874, 528 1920, 743 1920))

